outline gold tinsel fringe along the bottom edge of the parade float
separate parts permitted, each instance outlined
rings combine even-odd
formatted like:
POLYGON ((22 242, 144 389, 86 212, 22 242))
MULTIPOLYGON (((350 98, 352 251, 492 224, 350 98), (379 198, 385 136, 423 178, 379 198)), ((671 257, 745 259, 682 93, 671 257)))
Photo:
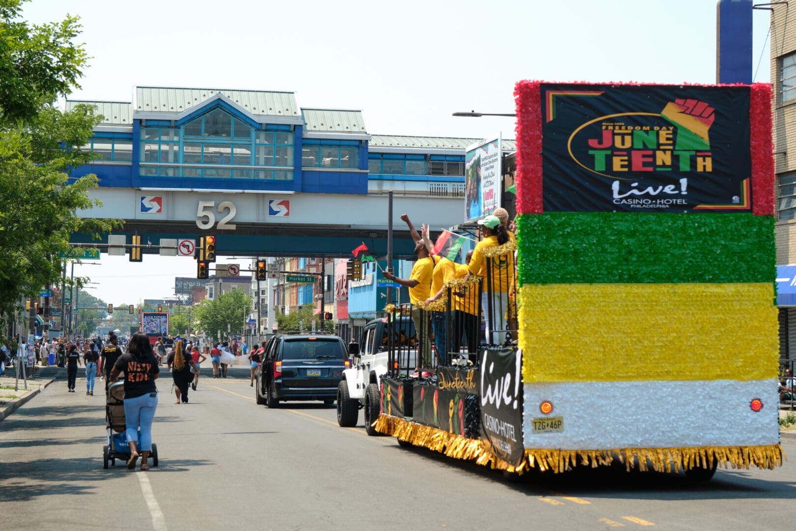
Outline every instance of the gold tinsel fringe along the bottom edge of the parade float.
POLYGON ((498 470, 508 470, 522 474, 526 470, 538 467, 540 470, 552 470, 558 474, 572 470, 578 464, 583 467, 607 466, 614 459, 625 463, 628 471, 638 463, 638 470, 650 469, 657 472, 677 472, 699 467, 712 467, 713 463, 727 468, 759 468, 773 469, 781 467, 782 460, 787 459, 779 444, 766 446, 732 446, 732 447, 682 447, 682 448, 621 448, 615 450, 549 450, 525 449, 525 458, 517 467, 506 463, 497 455, 486 450, 478 439, 467 439, 448 431, 416 424, 394 416, 380 415, 376 421, 376 430, 386 435, 407 441, 419 447, 439 451, 454 459, 470 459, 479 465, 490 466, 498 470), (578 463, 578 459, 580 463, 578 463), (649 464, 648 464, 649 463, 649 464))

